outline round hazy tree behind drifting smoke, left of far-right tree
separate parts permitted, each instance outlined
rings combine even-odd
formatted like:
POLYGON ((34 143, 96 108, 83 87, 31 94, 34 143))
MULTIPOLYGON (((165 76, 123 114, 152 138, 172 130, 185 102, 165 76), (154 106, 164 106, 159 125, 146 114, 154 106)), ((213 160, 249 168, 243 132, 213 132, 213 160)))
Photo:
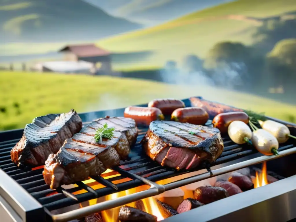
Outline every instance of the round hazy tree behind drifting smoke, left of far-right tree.
POLYGON ((204 68, 218 85, 247 89, 254 86, 255 70, 260 70, 258 66, 262 66, 256 62, 257 57, 252 48, 242 43, 220 42, 208 52, 204 68))

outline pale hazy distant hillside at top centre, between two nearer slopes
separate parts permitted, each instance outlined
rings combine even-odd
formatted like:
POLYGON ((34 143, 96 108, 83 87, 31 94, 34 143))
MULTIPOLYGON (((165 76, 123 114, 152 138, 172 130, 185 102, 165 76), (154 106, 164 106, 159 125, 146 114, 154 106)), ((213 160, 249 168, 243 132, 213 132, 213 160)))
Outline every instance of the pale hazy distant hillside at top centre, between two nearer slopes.
POLYGON ((84 0, 108 13, 143 25, 158 25, 190 12, 233 0, 84 0))

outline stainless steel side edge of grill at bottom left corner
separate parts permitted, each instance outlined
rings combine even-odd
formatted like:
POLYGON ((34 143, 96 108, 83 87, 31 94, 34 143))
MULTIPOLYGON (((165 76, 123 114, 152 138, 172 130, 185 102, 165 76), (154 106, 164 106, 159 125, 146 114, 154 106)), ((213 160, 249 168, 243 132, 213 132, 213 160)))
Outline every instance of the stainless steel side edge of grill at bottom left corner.
POLYGON ((22 186, 0 169, 0 196, 15 210, 23 221, 45 218, 43 206, 22 186))

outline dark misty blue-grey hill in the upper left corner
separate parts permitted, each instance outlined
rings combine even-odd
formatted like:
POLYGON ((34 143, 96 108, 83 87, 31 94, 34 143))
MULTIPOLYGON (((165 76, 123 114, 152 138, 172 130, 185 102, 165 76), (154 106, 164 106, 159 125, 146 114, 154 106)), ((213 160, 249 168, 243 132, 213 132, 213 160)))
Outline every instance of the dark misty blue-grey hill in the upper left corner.
POLYGON ((0 43, 89 41, 141 28, 82 0, 0 0, 0 43))

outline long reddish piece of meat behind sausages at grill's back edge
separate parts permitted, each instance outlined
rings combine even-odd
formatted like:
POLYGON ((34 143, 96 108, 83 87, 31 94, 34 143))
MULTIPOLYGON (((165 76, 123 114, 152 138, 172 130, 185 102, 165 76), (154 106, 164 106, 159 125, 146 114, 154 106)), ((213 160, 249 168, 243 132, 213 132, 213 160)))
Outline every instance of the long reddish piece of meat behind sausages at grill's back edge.
POLYGON ((207 111, 207 113, 211 116, 211 118, 214 118, 216 115, 224 112, 243 111, 241 109, 227 106, 218 102, 209 102, 203 99, 199 99, 197 97, 191 97, 189 100, 192 106, 201 107, 205 111, 207 111))

